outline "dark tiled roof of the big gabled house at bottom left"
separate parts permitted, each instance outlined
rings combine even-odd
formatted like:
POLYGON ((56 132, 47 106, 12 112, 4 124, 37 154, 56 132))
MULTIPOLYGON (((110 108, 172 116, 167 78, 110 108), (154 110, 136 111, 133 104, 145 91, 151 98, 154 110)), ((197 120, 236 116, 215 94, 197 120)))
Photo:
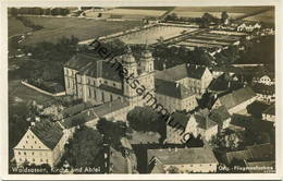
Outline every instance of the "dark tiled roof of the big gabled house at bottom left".
POLYGON ((50 149, 53 149, 63 136, 61 126, 49 120, 35 122, 29 129, 50 149))

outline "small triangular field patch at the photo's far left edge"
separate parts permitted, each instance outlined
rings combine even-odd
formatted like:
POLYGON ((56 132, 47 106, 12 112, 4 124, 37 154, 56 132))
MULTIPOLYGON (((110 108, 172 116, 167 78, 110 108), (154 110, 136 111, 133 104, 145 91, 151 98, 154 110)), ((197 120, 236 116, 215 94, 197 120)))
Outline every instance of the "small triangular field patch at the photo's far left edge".
POLYGON ((8 17, 8 36, 15 36, 30 32, 32 28, 26 27, 21 21, 15 17, 8 17))

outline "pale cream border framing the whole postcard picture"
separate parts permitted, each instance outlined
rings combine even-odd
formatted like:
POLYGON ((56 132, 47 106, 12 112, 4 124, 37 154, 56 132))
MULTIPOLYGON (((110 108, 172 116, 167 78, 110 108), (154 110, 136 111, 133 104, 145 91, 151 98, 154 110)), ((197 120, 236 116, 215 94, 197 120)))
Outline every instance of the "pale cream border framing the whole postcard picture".
POLYGON ((282 0, 2 0, 1 2, 1 65, 0 65, 0 120, 3 122, 0 128, 0 179, 9 180, 273 180, 283 179, 282 174, 282 73, 280 68, 283 63, 280 60, 282 51, 282 0), (230 174, 8 174, 8 7, 230 7, 230 5, 275 5, 275 80, 276 80, 276 173, 230 173, 230 174), (281 31, 280 31, 281 29, 281 31), (280 109, 281 108, 281 109, 280 109))

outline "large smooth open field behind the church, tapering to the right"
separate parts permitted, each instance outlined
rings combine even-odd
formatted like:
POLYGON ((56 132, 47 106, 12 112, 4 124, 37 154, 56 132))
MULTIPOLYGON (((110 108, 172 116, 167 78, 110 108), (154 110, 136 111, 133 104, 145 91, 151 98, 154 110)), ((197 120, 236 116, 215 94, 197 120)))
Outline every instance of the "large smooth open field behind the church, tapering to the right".
POLYGON ((36 44, 39 41, 56 43, 59 38, 74 35, 79 40, 96 38, 99 36, 113 34, 116 32, 133 28, 142 25, 137 21, 126 22, 106 22, 77 17, 27 17, 36 25, 45 28, 34 32, 24 41, 25 45, 36 44))

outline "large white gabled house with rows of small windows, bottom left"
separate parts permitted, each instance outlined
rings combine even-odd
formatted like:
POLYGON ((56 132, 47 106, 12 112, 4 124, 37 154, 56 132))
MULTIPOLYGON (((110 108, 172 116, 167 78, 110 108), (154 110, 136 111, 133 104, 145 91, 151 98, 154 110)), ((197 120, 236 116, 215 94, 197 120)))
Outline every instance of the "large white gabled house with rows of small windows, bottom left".
POLYGON ((16 166, 48 164, 53 168, 64 153, 65 137, 58 123, 49 120, 32 122, 13 148, 16 166))

